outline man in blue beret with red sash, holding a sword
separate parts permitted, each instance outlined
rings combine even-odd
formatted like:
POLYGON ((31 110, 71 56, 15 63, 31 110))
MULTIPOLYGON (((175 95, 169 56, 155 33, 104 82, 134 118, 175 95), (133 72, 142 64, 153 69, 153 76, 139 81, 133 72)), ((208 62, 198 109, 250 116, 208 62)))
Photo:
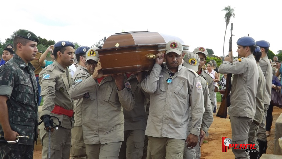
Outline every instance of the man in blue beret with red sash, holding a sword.
POLYGON ((67 68, 73 64, 74 47, 72 42, 59 41, 54 45, 54 63, 45 67, 39 73, 39 83, 44 99, 39 125, 42 148, 42 158, 48 158, 48 132, 46 127, 61 121, 61 126, 51 135, 51 158, 70 158, 71 129, 73 128, 73 100, 70 97, 70 86, 73 79, 67 68), (52 156, 53 155, 53 156, 52 156))

